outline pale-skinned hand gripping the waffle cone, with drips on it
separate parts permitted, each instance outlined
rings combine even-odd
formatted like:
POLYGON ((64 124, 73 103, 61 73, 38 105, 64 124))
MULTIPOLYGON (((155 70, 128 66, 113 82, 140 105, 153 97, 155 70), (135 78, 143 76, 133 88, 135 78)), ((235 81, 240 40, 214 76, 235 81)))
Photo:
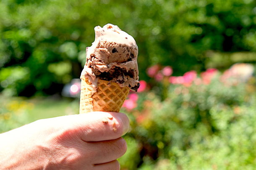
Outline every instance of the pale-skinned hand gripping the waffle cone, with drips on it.
POLYGON ((119 170, 123 113, 91 112, 42 119, 0 134, 1 170, 119 170))

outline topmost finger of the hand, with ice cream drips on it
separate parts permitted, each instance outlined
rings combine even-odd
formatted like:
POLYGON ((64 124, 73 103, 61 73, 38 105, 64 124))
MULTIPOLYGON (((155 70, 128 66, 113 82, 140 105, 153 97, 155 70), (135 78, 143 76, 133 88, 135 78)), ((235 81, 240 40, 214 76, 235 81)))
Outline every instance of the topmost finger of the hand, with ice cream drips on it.
POLYGON ((86 142, 118 139, 129 129, 129 119, 124 113, 90 112, 76 115, 76 128, 86 142))

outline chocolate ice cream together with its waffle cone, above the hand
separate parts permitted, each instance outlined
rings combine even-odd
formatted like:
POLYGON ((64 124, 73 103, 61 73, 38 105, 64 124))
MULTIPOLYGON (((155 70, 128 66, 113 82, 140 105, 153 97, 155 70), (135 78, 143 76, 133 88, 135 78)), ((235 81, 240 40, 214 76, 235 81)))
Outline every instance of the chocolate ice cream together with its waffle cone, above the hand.
POLYGON ((80 113, 119 112, 129 90, 137 91, 138 46, 128 33, 107 24, 94 28, 81 73, 80 113))

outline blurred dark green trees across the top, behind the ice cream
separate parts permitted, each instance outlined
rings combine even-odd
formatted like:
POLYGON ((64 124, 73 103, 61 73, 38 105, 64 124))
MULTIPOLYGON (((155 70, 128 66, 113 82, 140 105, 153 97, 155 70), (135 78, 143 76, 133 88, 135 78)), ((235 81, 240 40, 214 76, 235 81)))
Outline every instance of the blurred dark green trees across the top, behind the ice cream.
MULTIPOLYGON (((1 79, 0 90, 28 96, 60 92, 79 77, 94 26, 106 23, 136 39, 140 70, 156 63, 172 65, 175 74, 204 70, 209 50, 255 52, 255 5, 253 0, 2 0, 0 67, 18 67, 26 76, 1 79)), ((140 77, 148 79, 143 71, 140 77)))

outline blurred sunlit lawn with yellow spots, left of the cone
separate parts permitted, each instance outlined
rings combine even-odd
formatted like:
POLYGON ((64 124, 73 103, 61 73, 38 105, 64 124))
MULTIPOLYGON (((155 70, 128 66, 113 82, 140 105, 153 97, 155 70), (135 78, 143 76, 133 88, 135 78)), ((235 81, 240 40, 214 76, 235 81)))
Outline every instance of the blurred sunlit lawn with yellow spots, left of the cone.
POLYGON ((78 99, 6 98, 0 95, 0 133, 33 121, 79 113, 78 99))

